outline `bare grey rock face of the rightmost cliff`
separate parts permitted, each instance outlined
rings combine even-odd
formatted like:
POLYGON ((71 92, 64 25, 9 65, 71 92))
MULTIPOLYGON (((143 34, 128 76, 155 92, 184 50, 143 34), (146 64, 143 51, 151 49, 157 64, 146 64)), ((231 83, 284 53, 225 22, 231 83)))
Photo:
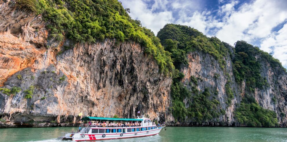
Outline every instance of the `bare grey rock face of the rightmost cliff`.
POLYGON ((267 61, 261 62, 261 76, 269 84, 264 89, 255 89, 255 99, 263 108, 277 113, 280 126, 287 127, 287 74, 280 68, 272 68, 267 61))

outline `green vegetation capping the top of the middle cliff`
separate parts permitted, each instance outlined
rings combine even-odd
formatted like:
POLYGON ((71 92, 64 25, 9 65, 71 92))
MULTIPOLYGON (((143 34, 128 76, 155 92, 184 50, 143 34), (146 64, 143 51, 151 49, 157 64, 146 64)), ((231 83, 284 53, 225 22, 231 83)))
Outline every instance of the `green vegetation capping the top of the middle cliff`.
POLYGON ((165 50, 171 53, 173 63, 179 67, 181 63, 187 64, 186 55, 192 51, 202 51, 212 55, 224 69, 224 57, 229 55, 228 49, 216 37, 206 37, 204 34, 188 26, 166 24, 157 37, 165 50))

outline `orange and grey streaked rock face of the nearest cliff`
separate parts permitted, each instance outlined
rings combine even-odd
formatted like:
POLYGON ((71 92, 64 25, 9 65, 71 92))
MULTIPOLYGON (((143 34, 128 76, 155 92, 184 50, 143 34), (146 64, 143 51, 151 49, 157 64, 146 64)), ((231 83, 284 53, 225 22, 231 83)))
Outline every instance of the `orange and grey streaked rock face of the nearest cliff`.
POLYGON ((163 119, 172 79, 134 42, 61 43, 47 39, 41 15, 0 3, 0 116, 12 122, 77 122, 84 116, 163 119), (70 48, 70 49, 67 49, 70 48), (61 52, 60 52, 61 50, 61 52), (33 95, 25 98, 30 86, 33 95))

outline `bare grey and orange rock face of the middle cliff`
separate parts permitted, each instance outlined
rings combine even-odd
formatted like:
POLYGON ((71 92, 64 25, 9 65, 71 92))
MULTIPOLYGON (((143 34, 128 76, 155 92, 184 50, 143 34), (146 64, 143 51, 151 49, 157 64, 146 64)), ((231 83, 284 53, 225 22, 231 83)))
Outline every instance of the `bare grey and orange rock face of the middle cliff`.
MULTIPOLYGON (((212 95, 210 98, 217 98, 220 102, 220 109, 225 110, 225 115, 219 117, 219 121, 207 122, 202 125, 217 125, 217 126, 230 126, 233 119, 233 111, 235 111, 236 103, 241 101, 241 93, 239 92, 240 86, 235 83, 234 78, 232 77, 232 61, 230 57, 225 59, 226 66, 224 67, 226 72, 220 67, 218 61, 214 59, 209 54, 203 52, 191 52, 188 54, 188 65, 181 67, 181 72, 184 73, 185 77, 182 79, 182 83, 186 85, 189 90, 192 90, 191 77, 198 79, 197 89, 202 92, 205 88, 210 88, 211 92, 217 92, 212 95), (235 96, 231 101, 231 104, 228 105, 226 95, 226 83, 230 81, 232 83, 231 88, 235 91, 235 96)), ((187 101, 185 102, 187 103, 187 101)), ((187 104, 186 104, 187 105, 187 104)), ((189 120, 186 120, 180 125, 198 125, 197 123, 192 123, 189 120)))

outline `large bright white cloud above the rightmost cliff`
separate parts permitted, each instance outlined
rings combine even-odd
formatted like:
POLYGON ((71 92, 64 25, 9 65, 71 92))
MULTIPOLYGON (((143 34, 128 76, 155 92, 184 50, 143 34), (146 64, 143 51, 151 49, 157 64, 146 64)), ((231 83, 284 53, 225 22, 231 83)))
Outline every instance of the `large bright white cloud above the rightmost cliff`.
POLYGON ((287 66, 287 26, 278 32, 272 29, 287 19, 287 6, 284 1, 257 0, 243 4, 238 10, 226 8, 224 26, 215 34, 222 41, 230 44, 237 40, 249 43, 259 42, 260 48, 266 52, 274 52, 273 56, 287 66), (282 6, 283 5, 283 6, 282 6), (284 38, 285 37, 285 38, 284 38))

